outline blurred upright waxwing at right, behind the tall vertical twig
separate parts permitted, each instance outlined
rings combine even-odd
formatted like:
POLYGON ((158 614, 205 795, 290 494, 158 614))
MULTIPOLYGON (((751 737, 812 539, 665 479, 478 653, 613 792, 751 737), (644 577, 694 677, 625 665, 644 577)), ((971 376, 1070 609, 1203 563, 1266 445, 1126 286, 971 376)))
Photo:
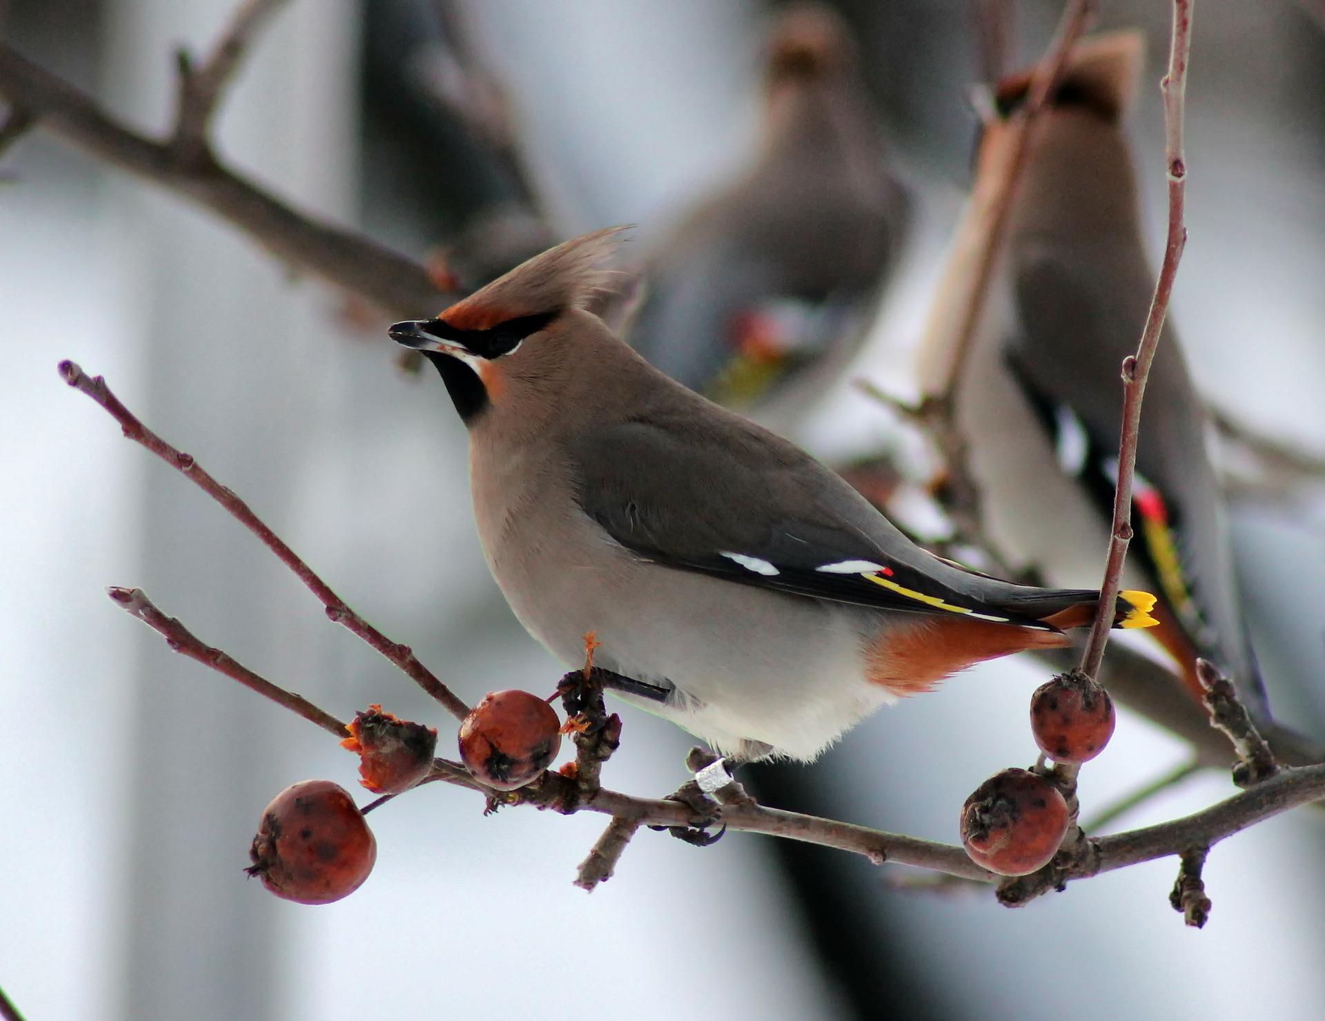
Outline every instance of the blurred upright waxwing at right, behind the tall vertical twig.
MULTIPOLYGON (((958 231, 922 349, 921 389, 947 395, 967 443, 986 538, 1000 561, 1056 585, 1098 578, 1117 477, 1120 367, 1136 350, 1154 272, 1145 253, 1136 172, 1120 123, 1143 40, 1081 42, 1032 127, 1030 152, 979 322, 965 354, 950 329, 969 280, 971 215, 958 231)), ((1006 80, 1002 111, 1024 101, 1030 73, 1006 80)), ((1004 123, 986 127, 979 176, 1000 163, 1004 123)), ((1171 690, 1118 690, 1185 736, 1210 737, 1196 656, 1228 672, 1268 724, 1265 692, 1239 610, 1223 499, 1206 450, 1206 411, 1178 338, 1165 328, 1150 370, 1137 452, 1136 541, 1125 583, 1159 595, 1154 636, 1178 667, 1171 690)), ((1125 679, 1124 679, 1125 680, 1125 679)), ((1284 735, 1288 743, 1291 736, 1284 735)), ((1227 756, 1227 747, 1222 753, 1227 756)), ((1310 753, 1302 753, 1310 757, 1310 753)))

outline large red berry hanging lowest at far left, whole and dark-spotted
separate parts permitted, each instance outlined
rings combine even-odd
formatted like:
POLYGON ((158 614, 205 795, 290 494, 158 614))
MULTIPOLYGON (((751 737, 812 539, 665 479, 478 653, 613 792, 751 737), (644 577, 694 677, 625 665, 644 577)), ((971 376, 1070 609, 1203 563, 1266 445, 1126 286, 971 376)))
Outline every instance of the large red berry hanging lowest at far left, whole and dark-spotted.
POLYGON ((249 875, 280 898, 330 904, 372 871, 378 841, 350 793, 330 780, 305 780, 272 798, 249 849, 249 875))

